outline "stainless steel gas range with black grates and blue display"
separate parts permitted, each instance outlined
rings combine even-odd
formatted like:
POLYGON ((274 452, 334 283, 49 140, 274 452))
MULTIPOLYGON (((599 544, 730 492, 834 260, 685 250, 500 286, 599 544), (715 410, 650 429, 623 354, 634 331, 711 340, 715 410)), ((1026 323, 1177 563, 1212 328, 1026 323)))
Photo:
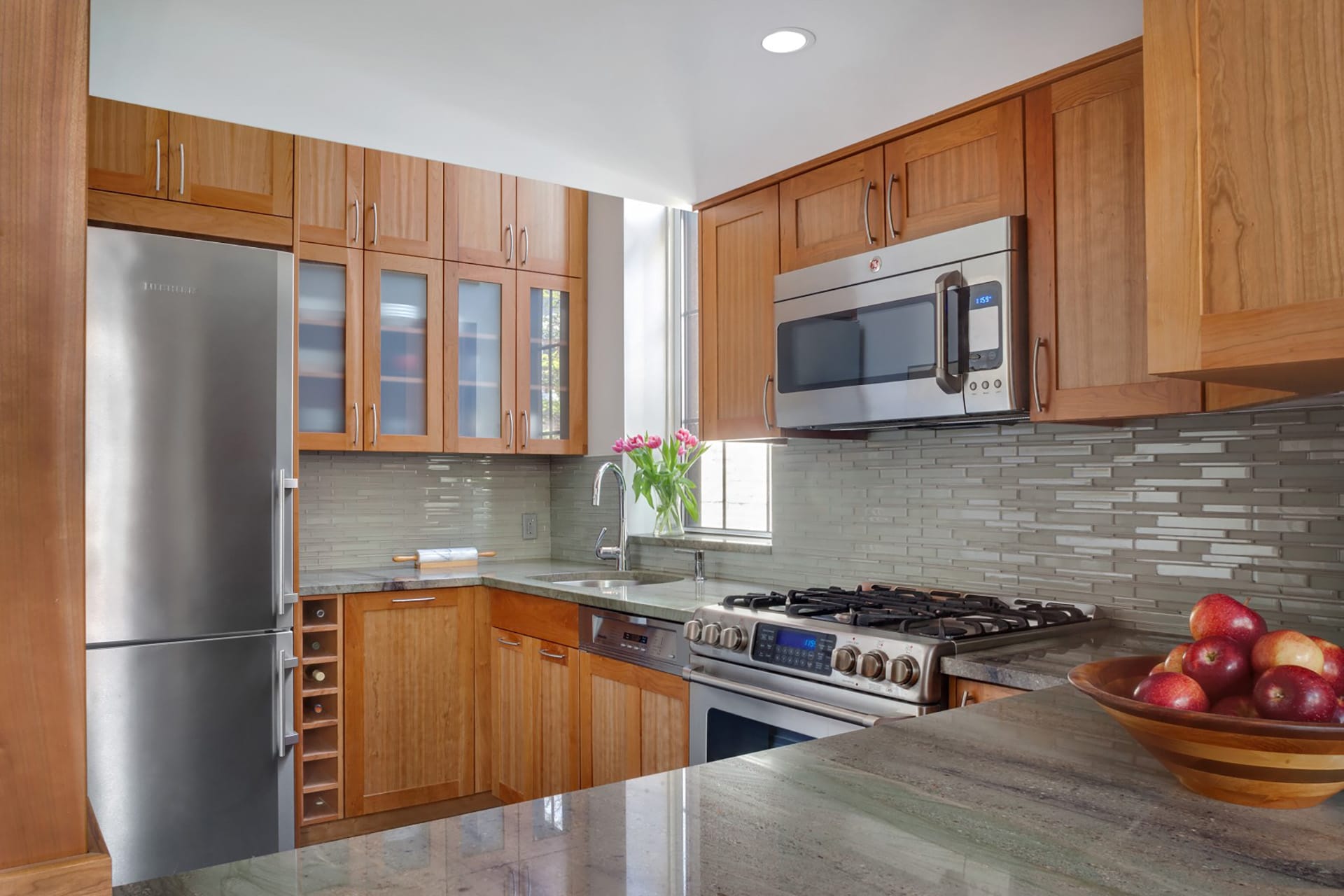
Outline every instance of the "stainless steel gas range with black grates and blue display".
POLYGON ((942 657, 1094 625, 1095 607, 915 588, 743 594, 685 623, 691 762, 943 708, 942 657))

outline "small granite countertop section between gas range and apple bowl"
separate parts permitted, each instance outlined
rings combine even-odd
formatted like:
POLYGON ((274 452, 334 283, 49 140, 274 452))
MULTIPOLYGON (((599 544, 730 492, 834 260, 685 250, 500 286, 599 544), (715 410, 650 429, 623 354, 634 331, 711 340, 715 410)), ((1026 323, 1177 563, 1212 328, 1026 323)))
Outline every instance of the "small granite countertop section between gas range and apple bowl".
POLYGON ((1110 657, 1165 654, 1181 641, 1173 634, 1089 627, 1078 634, 943 657, 942 673, 1005 688, 1042 690, 1068 684, 1068 670, 1077 665, 1110 657))

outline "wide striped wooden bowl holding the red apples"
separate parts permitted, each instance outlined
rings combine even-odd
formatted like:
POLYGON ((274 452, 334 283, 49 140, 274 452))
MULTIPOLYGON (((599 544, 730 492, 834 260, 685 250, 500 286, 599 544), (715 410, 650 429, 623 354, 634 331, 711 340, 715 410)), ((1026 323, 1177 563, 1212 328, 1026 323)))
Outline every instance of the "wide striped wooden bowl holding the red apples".
POLYGON ((1130 697, 1164 657, 1075 666, 1068 680, 1196 794, 1265 809, 1305 809, 1344 790, 1344 725, 1215 716, 1130 697))

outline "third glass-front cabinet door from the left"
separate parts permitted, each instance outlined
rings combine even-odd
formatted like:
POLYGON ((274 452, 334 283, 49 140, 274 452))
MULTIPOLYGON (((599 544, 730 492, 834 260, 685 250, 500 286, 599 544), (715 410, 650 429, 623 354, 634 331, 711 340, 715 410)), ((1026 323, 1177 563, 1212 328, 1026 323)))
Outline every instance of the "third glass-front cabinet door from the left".
POLYGON ((445 265, 444 450, 507 453, 516 445, 515 275, 445 265))

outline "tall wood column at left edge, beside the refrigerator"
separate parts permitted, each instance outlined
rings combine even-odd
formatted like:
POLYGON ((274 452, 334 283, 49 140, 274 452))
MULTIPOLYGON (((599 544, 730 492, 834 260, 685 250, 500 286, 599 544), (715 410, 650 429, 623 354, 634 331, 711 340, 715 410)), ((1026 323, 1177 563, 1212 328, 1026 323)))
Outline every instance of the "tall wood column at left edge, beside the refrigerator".
POLYGON ((0 893, 98 892, 81 858, 97 850, 85 798, 87 95, 89 0, 0 1, 0 893))

